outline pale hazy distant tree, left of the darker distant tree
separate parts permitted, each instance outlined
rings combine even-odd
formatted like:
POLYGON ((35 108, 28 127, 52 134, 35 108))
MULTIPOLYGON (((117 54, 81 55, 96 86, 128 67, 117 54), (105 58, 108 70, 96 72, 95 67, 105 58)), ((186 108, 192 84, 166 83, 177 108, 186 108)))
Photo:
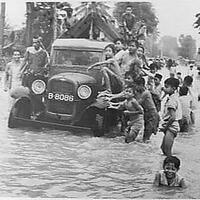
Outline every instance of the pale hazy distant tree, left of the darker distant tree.
POLYGON ((170 58, 176 58, 178 55, 178 42, 176 37, 163 36, 160 40, 162 54, 170 58))

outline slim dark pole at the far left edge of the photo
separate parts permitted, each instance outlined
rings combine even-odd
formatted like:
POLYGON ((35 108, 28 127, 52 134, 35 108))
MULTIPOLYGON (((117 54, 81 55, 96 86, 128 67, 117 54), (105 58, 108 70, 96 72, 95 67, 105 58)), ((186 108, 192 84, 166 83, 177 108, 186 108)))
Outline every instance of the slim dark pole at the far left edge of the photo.
POLYGON ((0 57, 3 56, 5 11, 6 11, 6 3, 2 2, 1 3, 1 14, 0 14, 0 57))

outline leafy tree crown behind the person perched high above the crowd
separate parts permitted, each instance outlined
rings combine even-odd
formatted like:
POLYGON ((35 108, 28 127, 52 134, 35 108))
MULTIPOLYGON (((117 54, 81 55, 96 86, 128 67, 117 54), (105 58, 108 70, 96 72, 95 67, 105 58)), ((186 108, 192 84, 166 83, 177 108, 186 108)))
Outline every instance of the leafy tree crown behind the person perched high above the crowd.
POLYGON ((136 16, 136 21, 144 21, 147 26, 147 32, 153 33, 158 25, 158 18, 150 2, 117 2, 113 10, 113 16, 121 24, 122 14, 126 7, 131 6, 136 16))

